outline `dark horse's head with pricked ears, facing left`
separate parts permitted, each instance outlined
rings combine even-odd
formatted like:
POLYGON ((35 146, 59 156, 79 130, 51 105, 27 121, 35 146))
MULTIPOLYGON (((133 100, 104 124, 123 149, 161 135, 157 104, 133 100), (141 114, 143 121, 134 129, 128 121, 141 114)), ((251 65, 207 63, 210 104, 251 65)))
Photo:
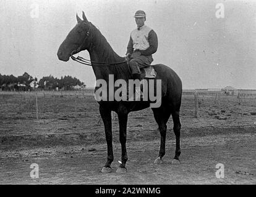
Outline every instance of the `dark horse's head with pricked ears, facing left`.
POLYGON ((77 25, 69 32, 58 50, 59 60, 67 62, 71 53, 76 54, 81 50, 88 50, 92 44, 92 24, 88 22, 83 12, 83 20, 77 15, 77 25), (75 51, 75 52, 74 52, 75 51))

